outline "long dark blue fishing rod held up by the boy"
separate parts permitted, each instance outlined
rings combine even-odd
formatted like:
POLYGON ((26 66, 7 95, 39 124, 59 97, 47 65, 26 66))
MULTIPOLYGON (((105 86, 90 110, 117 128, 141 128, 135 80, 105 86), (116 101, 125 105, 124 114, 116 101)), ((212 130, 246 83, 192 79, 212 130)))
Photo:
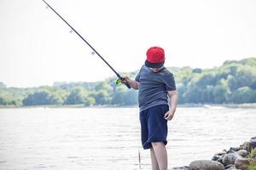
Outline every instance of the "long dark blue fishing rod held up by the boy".
MULTIPOLYGON (((43 1, 44 1, 44 0, 43 0, 43 1)), ((84 39, 84 37, 82 37, 82 36, 79 34, 79 32, 76 31, 76 30, 73 28, 73 26, 70 26, 70 25, 67 23, 67 21, 64 20, 64 19, 61 17, 61 15, 58 14, 58 13, 55 11, 54 8, 52 8, 52 7, 51 7, 48 3, 46 3, 45 1, 44 1, 44 3, 47 5, 47 7, 49 7, 51 10, 53 10, 53 12, 55 12, 55 14, 57 14, 57 15, 61 18, 61 20, 63 20, 63 21, 67 24, 67 26, 69 26, 69 27, 70 27, 70 28, 71 28, 71 29, 72 29, 72 30, 73 30, 73 31, 74 31, 74 32, 75 32, 92 50, 93 50, 93 52, 92 52, 91 54, 97 54, 97 55, 104 61, 104 63, 108 65, 108 67, 109 67, 109 68, 115 73, 115 75, 118 77, 118 80, 116 81, 116 84, 120 84, 121 81, 124 80, 124 77, 121 77, 121 76, 119 75, 119 73, 118 73, 117 71, 115 71, 111 65, 108 64, 108 62, 102 57, 102 55, 99 54, 99 53, 96 51, 96 49, 93 48, 93 47, 90 45, 90 43, 87 42, 87 41, 84 39)), ((131 88, 128 83, 126 83, 126 82, 124 82, 124 83, 125 83, 125 85, 126 85, 127 88, 131 88)))

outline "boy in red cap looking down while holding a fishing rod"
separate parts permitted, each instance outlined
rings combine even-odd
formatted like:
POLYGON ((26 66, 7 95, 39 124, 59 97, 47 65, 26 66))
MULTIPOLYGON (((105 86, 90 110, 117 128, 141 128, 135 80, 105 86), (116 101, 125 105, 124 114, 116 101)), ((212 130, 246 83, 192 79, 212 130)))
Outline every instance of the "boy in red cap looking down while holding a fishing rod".
POLYGON ((163 48, 149 48, 135 80, 125 77, 122 81, 139 90, 142 144, 144 150, 150 149, 153 170, 167 170, 167 121, 172 120, 177 108, 176 85, 172 73, 164 67, 165 59, 163 48))

